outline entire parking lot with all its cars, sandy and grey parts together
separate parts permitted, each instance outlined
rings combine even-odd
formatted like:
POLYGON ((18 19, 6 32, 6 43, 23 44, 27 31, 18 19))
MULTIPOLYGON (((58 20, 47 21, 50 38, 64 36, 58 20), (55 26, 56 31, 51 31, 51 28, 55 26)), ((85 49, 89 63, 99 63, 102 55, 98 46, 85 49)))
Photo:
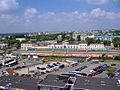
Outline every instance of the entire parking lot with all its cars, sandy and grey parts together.
POLYGON ((41 61, 36 60, 22 60, 19 61, 19 64, 14 67, 15 73, 19 75, 32 75, 43 79, 48 74, 70 74, 76 73, 78 76, 92 76, 100 78, 108 78, 108 72, 106 68, 101 67, 102 65, 110 66, 115 68, 116 71, 120 69, 120 63, 118 62, 102 62, 98 61, 93 63, 93 61, 79 62, 75 65, 71 65, 67 62, 47 62, 42 63, 41 61), (60 68, 60 66, 62 68, 60 68), (25 66, 25 67, 22 67, 25 66), (16 68, 17 67, 17 68, 16 68), (16 69, 15 69, 16 68, 16 69), (97 69, 96 69, 97 68, 97 69), (94 70, 96 69, 96 70, 94 70), (104 69, 104 70, 103 70, 104 69))

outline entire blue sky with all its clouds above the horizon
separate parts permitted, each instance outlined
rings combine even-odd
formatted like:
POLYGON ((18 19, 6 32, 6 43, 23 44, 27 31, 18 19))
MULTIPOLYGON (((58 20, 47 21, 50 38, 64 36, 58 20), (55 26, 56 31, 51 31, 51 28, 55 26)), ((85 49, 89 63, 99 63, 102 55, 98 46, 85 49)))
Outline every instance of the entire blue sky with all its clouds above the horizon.
POLYGON ((0 0, 0 33, 120 29, 120 0, 0 0))

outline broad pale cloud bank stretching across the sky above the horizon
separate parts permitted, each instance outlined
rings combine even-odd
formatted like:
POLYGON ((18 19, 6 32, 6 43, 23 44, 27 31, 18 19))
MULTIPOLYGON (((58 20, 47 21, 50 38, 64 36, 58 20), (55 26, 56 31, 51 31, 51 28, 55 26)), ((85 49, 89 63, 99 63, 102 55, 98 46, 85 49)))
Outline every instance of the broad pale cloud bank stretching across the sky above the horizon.
POLYGON ((23 16, 1 14, 0 32, 79 31, 120 27, 120 12, 95 8, 88 12, 46 12, 27 8, 23 16), (4 26, 5 25, 5 26, 4 26))

